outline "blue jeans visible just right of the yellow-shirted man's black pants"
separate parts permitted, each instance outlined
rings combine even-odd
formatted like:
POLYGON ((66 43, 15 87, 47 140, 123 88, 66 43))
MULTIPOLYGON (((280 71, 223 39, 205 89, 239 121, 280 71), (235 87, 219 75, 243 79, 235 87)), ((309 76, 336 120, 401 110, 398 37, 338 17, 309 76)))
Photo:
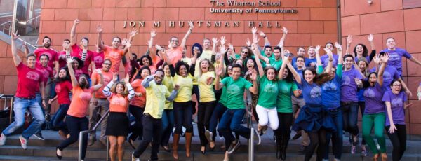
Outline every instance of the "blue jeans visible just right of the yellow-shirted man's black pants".
POLYGON ((174 111, 173 109, 164 109, 162 113, 162 139, 161 145, 168 146, 171 132, 174 127, 174 111))

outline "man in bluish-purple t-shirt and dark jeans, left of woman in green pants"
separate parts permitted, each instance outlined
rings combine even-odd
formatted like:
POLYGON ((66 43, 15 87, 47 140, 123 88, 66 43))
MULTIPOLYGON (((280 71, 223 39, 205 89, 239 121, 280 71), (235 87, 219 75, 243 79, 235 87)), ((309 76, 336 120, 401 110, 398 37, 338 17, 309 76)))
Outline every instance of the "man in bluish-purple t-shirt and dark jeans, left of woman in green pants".
POLYGON ((361 79, 365 78, 359 68, 352 68, 354 57, 352 55, 344 56, 344 71, 342 73, 342 84, 340 85, 340 105, 342 106, 342 115, 344 120, 344 130, 351 134, 352 149, 358 145, 358 97, 356 96, 357 87, 362 87, 361 79))

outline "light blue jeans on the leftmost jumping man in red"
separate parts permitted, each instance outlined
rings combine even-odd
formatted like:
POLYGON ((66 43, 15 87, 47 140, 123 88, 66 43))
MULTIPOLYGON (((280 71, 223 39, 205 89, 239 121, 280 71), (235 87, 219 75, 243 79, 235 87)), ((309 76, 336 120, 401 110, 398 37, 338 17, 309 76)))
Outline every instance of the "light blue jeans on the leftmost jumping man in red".
POLYGON ((39 106, 38 102, 36 102, 36 99, 21 99, 18 97, 15 97, 13 104, 15 121, 13 121, 13 123, 11 123, 11 125, 9 125, 5 130, 3 130, 3 134, 8 136, 15 132, 15 130, 17 130, 19 127, 21 127, 25 122, 25 111, 28 110, 32 114, 33 120, 31 125, 29 125, 29 127, 27 127, 27 129, 22 132, 22 137, 29 139, 29 137, 31 137, 37 130, 39 130, 42 123, 45 121, 41 107, 39 106))

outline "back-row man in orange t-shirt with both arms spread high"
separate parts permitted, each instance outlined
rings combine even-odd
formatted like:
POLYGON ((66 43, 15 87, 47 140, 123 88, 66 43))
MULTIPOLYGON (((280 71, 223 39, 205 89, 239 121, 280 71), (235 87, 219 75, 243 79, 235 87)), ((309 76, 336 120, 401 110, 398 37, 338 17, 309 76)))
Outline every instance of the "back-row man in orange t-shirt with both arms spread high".
MULTIPOLYGON (((111 71, 113 73, 119 73, 121 59, 124 57, 124 55, 126 55, 126 53, 128 52, 128 48, 130 48, 130 46, 126 45, 124 49, 119 49, 120 44, 121 44, 121 38, 119 38, 118 36, 112 38, 112 46, 104 45, 101 43, 102 41, 101 25, 98 25, 97 32, 98 32, 98 41, 97 41, 98 48, 104 51, 105 59, 111 60, 112 62, 111 71)), ((129 43, 133 40, 133 37, 136 34, 138 34, 138 29, 133 29, 129 33, 130 35, 130 38, 128 39, 129 43)))

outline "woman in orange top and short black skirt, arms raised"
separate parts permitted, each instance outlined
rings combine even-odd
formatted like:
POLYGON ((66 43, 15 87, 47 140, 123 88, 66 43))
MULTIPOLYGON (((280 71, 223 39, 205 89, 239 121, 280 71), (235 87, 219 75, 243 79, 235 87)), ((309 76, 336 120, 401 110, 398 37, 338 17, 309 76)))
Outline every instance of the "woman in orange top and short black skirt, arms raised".
POLYGON ((105 97, 109 100, 109 116, 105 134, 108 136, 109 144, 111 145, 109 148, 111 160, 115 160, 116 152, 119 161, 123 160, 123 144, 128 134, 128 125, 130 125, 126 115, 127 107, 130 100, 135 97, 135 91, 128 80, 129 77, 126 74, 124 82, 117 83, 117 73, 114 73, 112 81, 102 90, 105 97))

